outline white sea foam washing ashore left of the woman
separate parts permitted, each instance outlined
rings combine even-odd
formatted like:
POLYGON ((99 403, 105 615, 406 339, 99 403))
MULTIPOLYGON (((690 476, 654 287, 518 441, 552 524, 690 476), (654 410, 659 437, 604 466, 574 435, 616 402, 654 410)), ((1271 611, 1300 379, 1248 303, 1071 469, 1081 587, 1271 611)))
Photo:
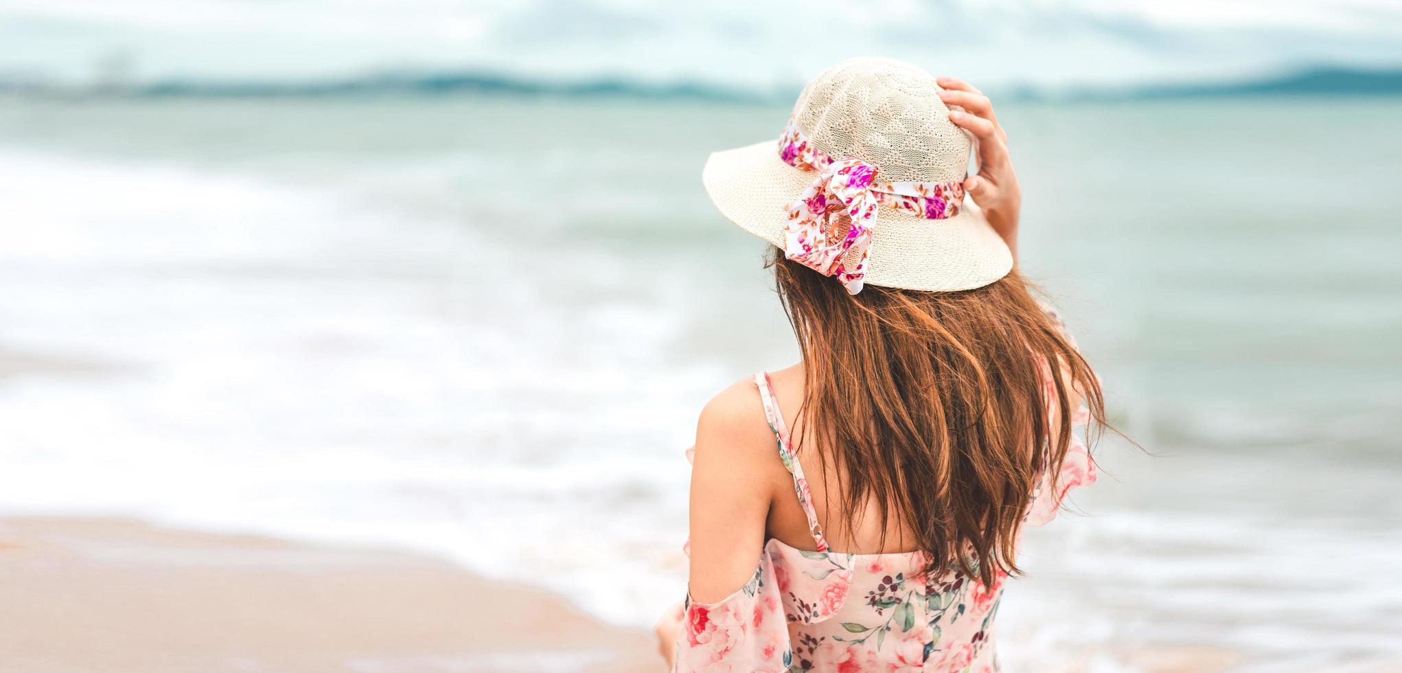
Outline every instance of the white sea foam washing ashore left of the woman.
POLYGON ((648 395, 684 390, 684 367, 561 348, 646 358, 665 315, 552 315, 491 283, 508 259, 457 223, 332 189, 0 161, 0 344, 21 367, 0 386, 6 509, 402 545, 618 621, 680 590, 693 411, 648 395))

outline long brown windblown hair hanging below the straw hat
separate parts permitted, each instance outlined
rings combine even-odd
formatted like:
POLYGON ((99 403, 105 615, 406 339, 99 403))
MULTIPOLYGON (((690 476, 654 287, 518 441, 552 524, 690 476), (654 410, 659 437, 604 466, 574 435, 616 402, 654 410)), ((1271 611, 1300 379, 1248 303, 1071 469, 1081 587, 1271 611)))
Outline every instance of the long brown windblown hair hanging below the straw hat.
POLYGON ((1033 287, 1014 269, 974 290, 851 296, 777 248, 770 266, 803 355, 798 446, 836 475, 829 512, 852 531, 875 502, 930 576, 1018 573, 1018 530, 1042 471, 1059 474, 1073 404, 1105 418, 1099 381, 1033 287))

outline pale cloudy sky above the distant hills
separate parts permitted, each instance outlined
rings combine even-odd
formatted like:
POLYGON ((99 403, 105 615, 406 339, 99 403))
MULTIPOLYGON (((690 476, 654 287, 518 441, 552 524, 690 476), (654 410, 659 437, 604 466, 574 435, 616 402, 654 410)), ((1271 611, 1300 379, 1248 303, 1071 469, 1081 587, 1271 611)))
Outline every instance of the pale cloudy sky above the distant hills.
POLYGON ((1402 67, 1402 0, 0 0, 0 79, 489 70, 785 87, 864 55, 1040 87, 1402 67))

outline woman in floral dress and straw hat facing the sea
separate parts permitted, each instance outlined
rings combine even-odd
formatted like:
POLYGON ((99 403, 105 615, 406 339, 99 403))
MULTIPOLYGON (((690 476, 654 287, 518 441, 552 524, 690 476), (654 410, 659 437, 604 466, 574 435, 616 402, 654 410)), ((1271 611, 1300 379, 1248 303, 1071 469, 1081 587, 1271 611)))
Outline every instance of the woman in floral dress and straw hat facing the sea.
POLYGON ((775 245, 802 362, 701 412, 688 599, 658 627, 669 666, 997 670, 1022 524, 1095 480, 1071 426, 1103 407, 1014 269, 1021 192, 988 100, 844 62, 778 146, 712 154, 702 181, 775 245))

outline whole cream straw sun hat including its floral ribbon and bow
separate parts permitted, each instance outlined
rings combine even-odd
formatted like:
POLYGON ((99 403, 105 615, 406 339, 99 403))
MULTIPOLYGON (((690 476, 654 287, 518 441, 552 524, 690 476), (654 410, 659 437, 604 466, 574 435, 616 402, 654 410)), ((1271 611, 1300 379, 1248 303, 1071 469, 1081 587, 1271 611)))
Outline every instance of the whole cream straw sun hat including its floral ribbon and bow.
POLYGON ((972 203, 972 142, 924 70, 852 59, 799 95, 773 140, 711 156, 702 182, 735 222, 857 294, 981 287, 1012 255, 972 203))

